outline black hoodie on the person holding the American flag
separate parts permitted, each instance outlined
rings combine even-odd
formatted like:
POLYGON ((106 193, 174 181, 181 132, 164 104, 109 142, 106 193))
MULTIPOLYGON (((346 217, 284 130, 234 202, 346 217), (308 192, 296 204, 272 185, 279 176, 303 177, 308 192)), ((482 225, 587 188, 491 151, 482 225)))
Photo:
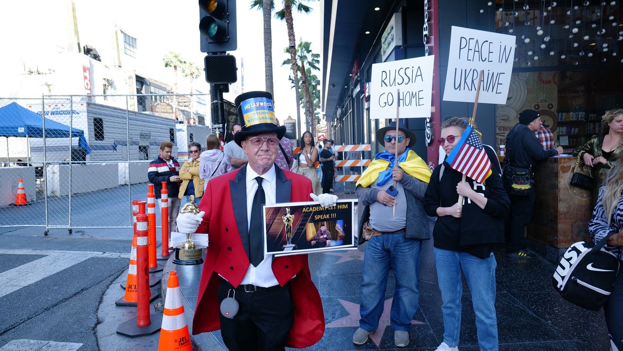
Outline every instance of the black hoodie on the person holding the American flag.
MULTIPOLYGON (((485 147, 487 156, 494 161, 495 151, 485 147)), ((444 173, 439 179, 442 165, 439 165, 430 176, 430 183, 424 195, 424 209, 429 216, 437 216, 437 208, 450 207, 459 201, 457 184, 462 174, 450 168, 444 161, 444 173)), ((474 181, 466 178, 474 188, 474 181)), ((504 218, 508 216, 510 200, 502 185, 502 178, 496 171, 488 176, 483 185, 474 189, 487 198, 482 209, 477 204, 464 198, 461 218, 453 216, 438 217, 433 229, 434 246, 449 251, 464 251, 473 256, 487 258, 494 244, 504 243, 504 218)))

